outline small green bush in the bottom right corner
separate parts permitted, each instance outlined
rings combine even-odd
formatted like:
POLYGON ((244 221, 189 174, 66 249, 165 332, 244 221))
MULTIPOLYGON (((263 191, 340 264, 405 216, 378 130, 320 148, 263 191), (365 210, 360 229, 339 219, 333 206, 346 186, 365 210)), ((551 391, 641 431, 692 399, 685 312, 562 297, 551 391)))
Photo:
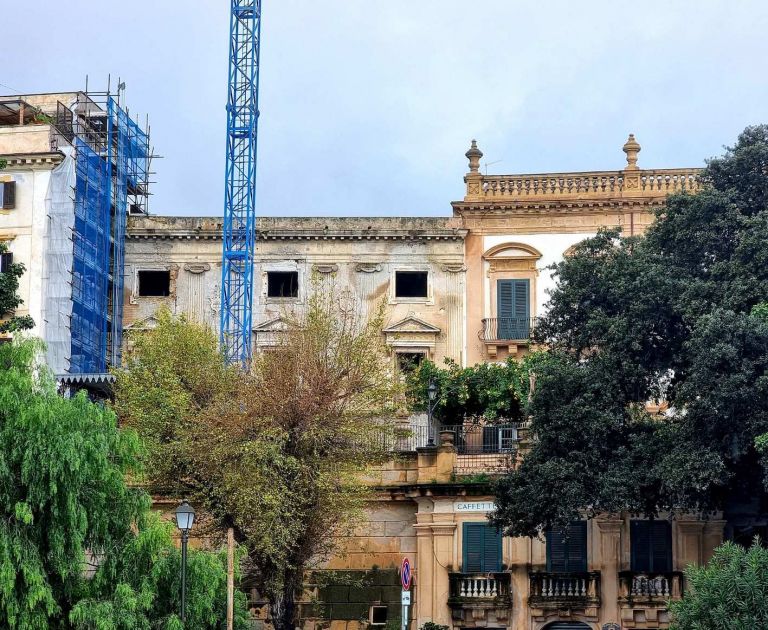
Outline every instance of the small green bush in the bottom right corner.
POLYGON ((706 566, 686 572, 682 600, 671 602, 671 630, 752 630, 768 627, 768 549, 727 542, 706 566))

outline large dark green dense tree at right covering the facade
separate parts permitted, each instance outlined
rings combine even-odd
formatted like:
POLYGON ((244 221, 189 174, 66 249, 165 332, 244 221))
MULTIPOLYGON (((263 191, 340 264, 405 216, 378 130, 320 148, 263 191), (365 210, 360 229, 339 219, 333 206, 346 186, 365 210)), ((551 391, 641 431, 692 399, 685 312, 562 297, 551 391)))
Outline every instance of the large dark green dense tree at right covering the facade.
POLYGON ((555 266, 537 327, 550 357, 526 410, 537 440, 497 488, 508 533, 585 512, 707 513, 761 491, 768 127, 745 130, 702 183, 644 237, 604 230, 555 266))

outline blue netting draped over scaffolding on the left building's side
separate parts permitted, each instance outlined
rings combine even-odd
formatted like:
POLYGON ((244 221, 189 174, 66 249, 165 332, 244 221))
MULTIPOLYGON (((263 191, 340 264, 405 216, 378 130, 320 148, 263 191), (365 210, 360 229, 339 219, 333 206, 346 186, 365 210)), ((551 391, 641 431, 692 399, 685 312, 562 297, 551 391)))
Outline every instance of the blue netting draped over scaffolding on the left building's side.
POLYGON ((147 193, 149 137, 111 96, 106 109, 101 133, 73 143, 72 374, 120 365, 128 200, 147 193))

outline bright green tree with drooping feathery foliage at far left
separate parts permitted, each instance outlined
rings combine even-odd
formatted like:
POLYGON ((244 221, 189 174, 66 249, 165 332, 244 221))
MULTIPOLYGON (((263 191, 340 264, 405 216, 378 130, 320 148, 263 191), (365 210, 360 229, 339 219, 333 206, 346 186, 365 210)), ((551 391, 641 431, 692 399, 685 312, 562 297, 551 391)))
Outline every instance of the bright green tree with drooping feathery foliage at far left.
MULTIPOLYGON (((147 494, 126 483, 138 437, 84 393, 59 396, 41 351, 33 340, 0 346, 0 625, 179 628, 179 554, 147 494)), ((218 627, 224 560, 190 561, 192 627, 218 627)))

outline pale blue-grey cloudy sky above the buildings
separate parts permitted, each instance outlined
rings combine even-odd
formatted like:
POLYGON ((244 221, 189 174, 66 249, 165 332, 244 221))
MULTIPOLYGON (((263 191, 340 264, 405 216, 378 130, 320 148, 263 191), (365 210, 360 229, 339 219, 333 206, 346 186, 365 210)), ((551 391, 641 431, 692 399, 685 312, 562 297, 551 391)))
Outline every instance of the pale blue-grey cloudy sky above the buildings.
MULTIPOLYGON (((153 214, 221 215, 227 0, 3 2, 0 94, 149 115, 153 214), (7 6, 6 6, 7 5, 7 6)), ((440 216, 488 173, 700 166, 768 123, 765 0, 263 0, 257 213, 440 216)))

